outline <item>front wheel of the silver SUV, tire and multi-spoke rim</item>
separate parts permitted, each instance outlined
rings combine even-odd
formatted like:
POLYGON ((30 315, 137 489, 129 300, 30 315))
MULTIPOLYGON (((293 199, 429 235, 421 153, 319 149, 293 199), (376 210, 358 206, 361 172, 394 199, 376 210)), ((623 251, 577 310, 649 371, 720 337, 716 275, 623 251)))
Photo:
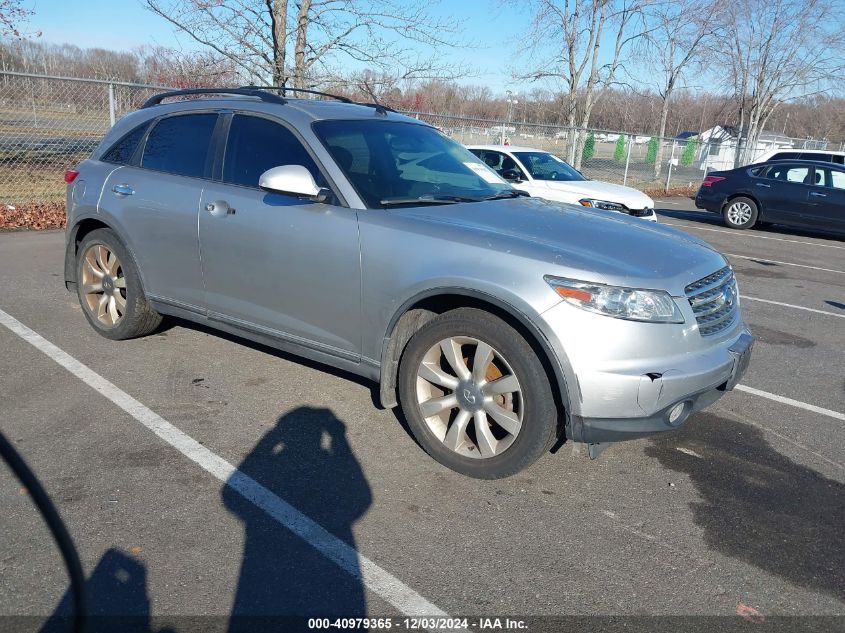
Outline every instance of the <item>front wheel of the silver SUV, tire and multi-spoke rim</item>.
POLYGON ((399 400, 423 449, 477 479, 509 477, 557 439, 558 410, 536 352, 516 330, 475 308, 446 312, 414 334, 399 365, 399 400), (487 362, 474 372, 477 353, 487 362))

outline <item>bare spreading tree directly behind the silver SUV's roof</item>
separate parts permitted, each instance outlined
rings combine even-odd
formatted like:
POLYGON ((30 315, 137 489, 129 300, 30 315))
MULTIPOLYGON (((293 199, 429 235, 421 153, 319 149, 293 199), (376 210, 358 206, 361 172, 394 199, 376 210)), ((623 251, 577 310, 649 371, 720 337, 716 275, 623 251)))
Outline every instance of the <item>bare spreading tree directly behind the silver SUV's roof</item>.
POLYGON ((228 58, 256 83, 296 88, 358 66, 400 77, 455 76, 431 50, 452 46, 453 24, 425 0, 144 0, 179 31, 228 58), (290 64, 289 60, 293 60, 290 64))

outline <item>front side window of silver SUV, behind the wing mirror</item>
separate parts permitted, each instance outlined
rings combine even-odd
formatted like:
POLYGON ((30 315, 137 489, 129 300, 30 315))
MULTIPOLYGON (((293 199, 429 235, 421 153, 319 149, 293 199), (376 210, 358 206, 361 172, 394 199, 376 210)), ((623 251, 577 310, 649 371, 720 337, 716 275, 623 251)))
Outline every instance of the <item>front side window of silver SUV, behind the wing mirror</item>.
POLYGON ((280 165, 302 165, 318 185, 326 185, 317 165, 293 132, 268 119, 236 114, 226 142, 223 181, 258 187, 261 174, 280 165))

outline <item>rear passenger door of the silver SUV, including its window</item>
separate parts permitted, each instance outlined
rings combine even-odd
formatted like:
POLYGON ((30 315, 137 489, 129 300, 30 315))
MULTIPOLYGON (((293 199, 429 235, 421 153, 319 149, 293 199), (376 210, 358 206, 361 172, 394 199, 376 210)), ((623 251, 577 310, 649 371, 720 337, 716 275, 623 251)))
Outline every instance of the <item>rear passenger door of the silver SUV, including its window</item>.
POLYGON ((134 164, 112 172, 100 199, 135 256, 147 295, 194 310, 204 294, 197 214, 217 118, 201 112, 155 121, 134 164))

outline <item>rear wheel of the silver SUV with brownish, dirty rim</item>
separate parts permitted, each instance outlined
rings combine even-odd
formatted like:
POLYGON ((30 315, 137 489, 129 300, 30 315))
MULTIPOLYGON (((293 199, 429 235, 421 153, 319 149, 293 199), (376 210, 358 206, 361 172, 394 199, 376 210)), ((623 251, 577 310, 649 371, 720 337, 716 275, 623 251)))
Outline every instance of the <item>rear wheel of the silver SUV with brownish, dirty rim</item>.
POLYGON ((79 245, 76 294, 88 323, 106 338, 144 336, 161 323, 144 296, 135 261, 110 229, 91 231, 79 245))

